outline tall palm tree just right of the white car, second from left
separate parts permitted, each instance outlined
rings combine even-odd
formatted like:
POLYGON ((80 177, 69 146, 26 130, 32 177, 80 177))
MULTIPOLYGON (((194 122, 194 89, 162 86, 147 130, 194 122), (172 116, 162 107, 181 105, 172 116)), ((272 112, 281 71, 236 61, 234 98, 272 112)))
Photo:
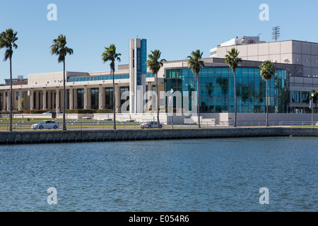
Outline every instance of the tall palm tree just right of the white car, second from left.
POLYGON ((73 49, 66 47, 66 37, 64 35, 59 35, 57 39, 53 40, 50 52, 52 55, 57 55, 59 57, 57 59, 58 63, 63 62, 63 130, 66 130, 65 57, 67 54, 73 54, 73 49))

